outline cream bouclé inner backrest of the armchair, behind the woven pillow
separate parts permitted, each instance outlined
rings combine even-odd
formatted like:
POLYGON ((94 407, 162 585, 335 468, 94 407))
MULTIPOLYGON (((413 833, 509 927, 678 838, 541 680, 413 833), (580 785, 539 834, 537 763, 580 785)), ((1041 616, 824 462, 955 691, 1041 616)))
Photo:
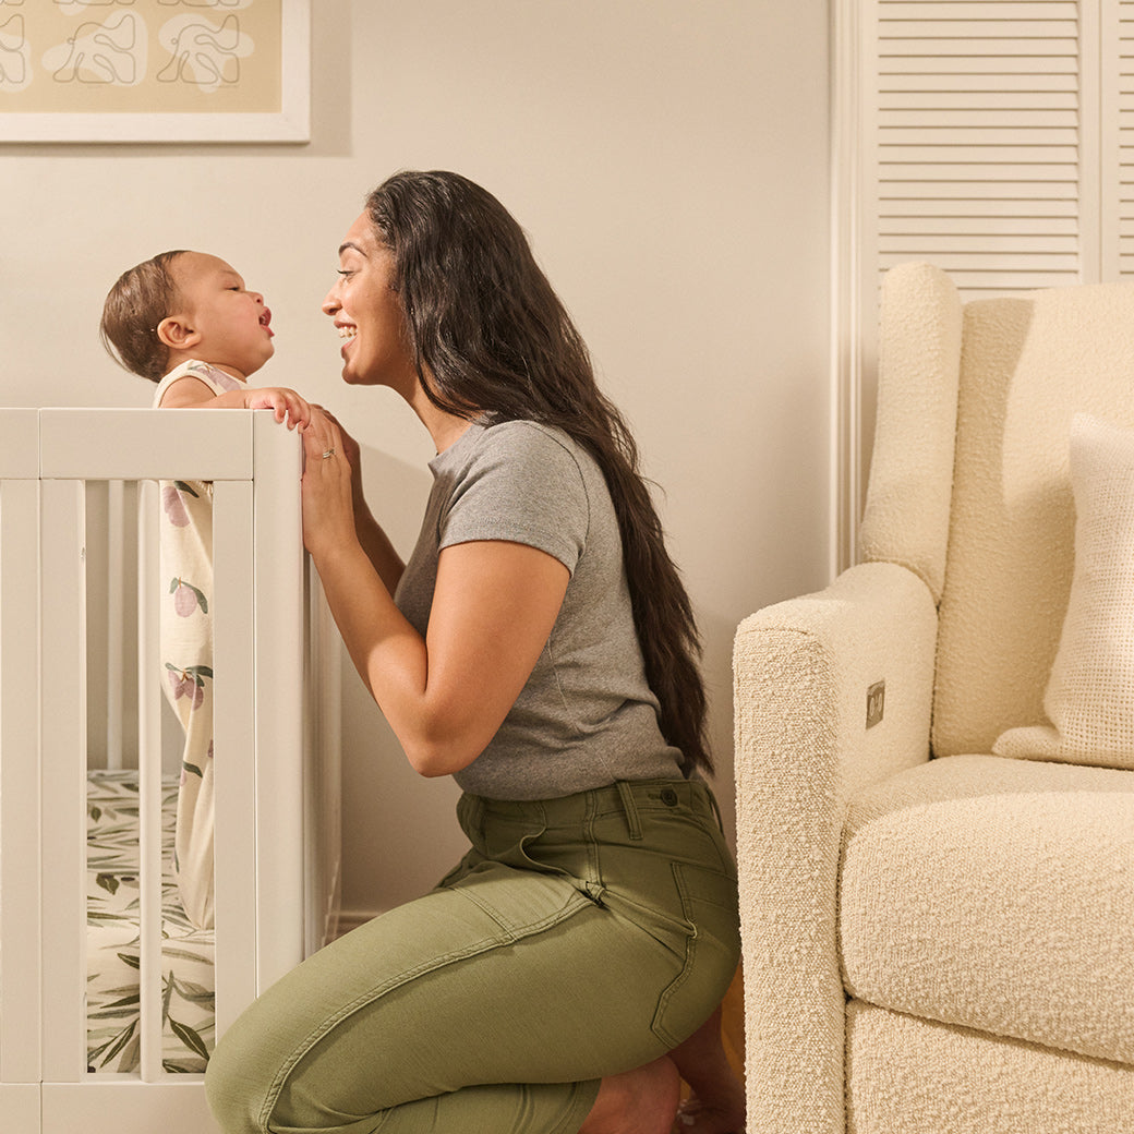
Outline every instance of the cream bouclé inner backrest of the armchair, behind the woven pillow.
POLYGON ((991 752, 1005 729, 1043 720, 1074 566, 1070 422, 1134 425, 1132 359, 1128 284, 964 307, 937 755, 991 752))

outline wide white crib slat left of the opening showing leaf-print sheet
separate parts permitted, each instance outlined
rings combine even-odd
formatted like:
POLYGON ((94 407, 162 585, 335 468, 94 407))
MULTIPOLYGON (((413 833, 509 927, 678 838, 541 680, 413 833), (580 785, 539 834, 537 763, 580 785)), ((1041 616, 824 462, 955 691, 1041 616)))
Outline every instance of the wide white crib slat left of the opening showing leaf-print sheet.
POLYGON ((43 1074, 86 1067, 86 583, 81 481, 41 485, 43 1074))

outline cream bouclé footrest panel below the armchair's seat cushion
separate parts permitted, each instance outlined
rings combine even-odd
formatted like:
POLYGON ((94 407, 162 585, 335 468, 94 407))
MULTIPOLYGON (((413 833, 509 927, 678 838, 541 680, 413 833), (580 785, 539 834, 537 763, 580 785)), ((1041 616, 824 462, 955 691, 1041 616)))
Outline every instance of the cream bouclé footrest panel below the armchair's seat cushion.
POLYGON ((853 1000, 848 1134, 1126 1134, 1134 1068, 853 1000))

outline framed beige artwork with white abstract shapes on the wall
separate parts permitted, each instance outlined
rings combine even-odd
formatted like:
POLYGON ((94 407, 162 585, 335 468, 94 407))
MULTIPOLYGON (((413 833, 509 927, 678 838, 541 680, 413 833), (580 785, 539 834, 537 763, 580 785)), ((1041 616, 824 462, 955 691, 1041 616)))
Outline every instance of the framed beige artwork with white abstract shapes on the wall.
POLYGON ((0 143, 307 142, 310 0, 0 0, 0 143))

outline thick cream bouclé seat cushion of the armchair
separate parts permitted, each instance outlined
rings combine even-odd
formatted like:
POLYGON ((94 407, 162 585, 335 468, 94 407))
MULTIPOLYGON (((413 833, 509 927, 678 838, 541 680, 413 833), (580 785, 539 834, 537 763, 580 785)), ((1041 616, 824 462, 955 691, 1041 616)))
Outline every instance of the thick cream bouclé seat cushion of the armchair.
POLYGON ((857 999, 1134 1064, 1134 772, 932 760, 850 801, 857 999))

